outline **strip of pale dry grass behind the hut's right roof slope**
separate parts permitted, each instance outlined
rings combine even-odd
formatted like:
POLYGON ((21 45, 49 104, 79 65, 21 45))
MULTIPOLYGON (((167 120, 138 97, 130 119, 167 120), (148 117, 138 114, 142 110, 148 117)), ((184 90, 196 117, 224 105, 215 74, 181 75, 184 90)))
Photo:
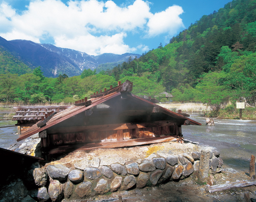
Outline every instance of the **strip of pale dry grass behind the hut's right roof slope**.
POLYGON ((203 103, 167 103, 159 104, 161 107, 170 109, 172 111, 178 112, 179 109, 182 112, 209 112, 210 107, 203 103))

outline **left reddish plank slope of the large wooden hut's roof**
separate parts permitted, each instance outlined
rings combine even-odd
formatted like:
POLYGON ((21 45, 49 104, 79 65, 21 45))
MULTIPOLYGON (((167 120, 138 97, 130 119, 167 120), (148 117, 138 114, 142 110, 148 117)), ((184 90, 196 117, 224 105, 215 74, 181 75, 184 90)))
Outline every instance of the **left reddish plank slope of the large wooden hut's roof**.
MULTIPOLYGON (((30 129, 28 129, 26 132, 22 133, 21 135, 19 135, 19 138, 17 139, 17 142, 21 141, 21 140, 24 140, 28 137, 30 137, 31 135, 34 135, 38 132, 41 132, 41 131, 44 131, 46 130, 47 128, 57 124, 57 123, 60 123, 68 118, 70 118, 69 116, 72 115, 72 116, 75 116, 76 114, 79 114, 83 111, 86 111, 87 109, 90 109, 100 103, 103 103, 105 102, 106 100, 109 100, 113 97, 116 97, 118 95, 120 95, 121 93, 116 93, 116 94, 109 94, 108 96, 105 96, 104 98, 102 99, 98 99, 96 102, 93 102, 91 105, 89 106, 73 106, 69 109, 66 109, 66 110, 63 110, 59 113, 56 114, 56 116, 53 116, 47 123, 46 123, 46 126, 43 126, 42 128, 38 128, 37 127, 37 124, 34 124, 32 127, 30 127, 30 129), (75 112, 72 112, 73 108, 77 108, 75 110, 75 112), (63 114, 65 113, 65 114, 63 114), (62 116, 63 115, 63 116, 62 116)), ((71 117, 72 117, 71 116, 71 117)))

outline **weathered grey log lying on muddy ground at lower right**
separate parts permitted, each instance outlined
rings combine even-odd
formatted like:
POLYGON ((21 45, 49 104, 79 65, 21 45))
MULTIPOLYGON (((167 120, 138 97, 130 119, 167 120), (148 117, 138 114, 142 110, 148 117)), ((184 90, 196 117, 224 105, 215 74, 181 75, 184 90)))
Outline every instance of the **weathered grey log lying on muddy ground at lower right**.
POLYGON ((225 184, 222 185, 213 185, 213 186, 209 186, 206 185, 206 189, 207 191, 209 191, 209 193, 213 193, 216 191, 223 191, 223 190, 228 190, 228 189, 232 189, 232 188, 237 188, 237 187, 244 187, 244 186, 252 186, 252 185, 256 185, 256 180, 237 180, 235 182, 230 182, 230 181, 226 181, 225 184))

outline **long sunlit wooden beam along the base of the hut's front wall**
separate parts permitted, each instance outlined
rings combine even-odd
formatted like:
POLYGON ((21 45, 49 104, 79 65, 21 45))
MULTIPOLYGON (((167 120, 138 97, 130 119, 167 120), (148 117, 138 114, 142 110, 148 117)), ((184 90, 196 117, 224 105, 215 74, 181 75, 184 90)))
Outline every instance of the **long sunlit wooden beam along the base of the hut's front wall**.
POLYGON ((45 151, 45 154, 59 154, 59 153, 71 152, 74 150, 91 150, 91 149, 99 149, 99 148, 111 149, 111 148, 118 148, 118 147, 148 145, 148 144, 170 142, 170 141, 177 141, 177 136, 168 135, 168 136, 161 136, 161 137, 139 138, 139 139, 122 140, 122 141, 89 143, 86 145, 59 146, 59 147, 52 148, 49 151, 45 151))

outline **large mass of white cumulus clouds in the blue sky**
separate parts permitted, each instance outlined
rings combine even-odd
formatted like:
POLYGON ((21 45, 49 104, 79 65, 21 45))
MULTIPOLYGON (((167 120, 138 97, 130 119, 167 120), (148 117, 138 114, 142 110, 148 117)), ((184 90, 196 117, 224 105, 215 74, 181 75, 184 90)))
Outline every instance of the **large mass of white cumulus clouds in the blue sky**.
MULTIPOLYGON (((143 44, 130 47, 127 34, 143 33, 148 38, 176 33, 183 25, 179 6, 158 13, 150 3, 135 0, 119 7, 115 2, 98 0, 34 0, 27 10, 17 13, 6 2, 0 6, 0 36, 7 40, 26 39, 39 43, 54 39, 54 45, 97 55, 101 53, 146 51, 143 44)), ((139 40, 139 39, 138 39, 139 40)))

